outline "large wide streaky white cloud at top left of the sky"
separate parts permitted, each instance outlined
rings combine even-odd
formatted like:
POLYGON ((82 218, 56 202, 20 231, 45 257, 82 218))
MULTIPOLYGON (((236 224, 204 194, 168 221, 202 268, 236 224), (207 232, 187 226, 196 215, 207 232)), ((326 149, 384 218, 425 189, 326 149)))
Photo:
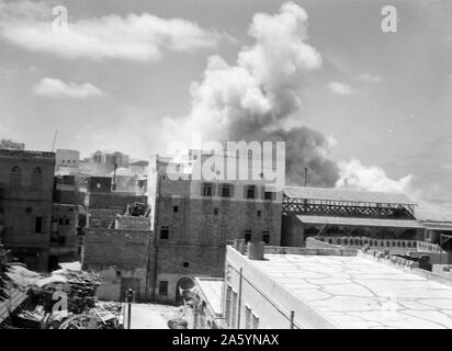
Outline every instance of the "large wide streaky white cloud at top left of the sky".
MULTIPOLYGON (((69 13, 70 14, 70 13, 69 13)), ((160 60, 165 50, 191 52, 215 47, 223 37, 182 19, 143 13, 70 20, 54 31, 49 3, 0 1, 0 34, 24 49, 68 59, 160 60)))

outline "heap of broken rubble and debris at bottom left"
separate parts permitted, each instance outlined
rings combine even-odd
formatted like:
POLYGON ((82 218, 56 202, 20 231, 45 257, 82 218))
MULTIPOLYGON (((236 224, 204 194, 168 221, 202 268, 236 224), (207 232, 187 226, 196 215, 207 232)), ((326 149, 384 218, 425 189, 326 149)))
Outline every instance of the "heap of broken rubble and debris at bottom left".
POLYGON ((79 262, 61 263, 60 267, 60 270, 52 272, 48 276, 30 272, 23 268, 15 270, 14 278, 19 283, 23 283, 24 272, 26 273, 30 297, 11 315, 3 327, 33 329, 121 328, 122 305, 120 303, 98 302, 95 288, 101 284, 99 275, 82 271, 79 262))

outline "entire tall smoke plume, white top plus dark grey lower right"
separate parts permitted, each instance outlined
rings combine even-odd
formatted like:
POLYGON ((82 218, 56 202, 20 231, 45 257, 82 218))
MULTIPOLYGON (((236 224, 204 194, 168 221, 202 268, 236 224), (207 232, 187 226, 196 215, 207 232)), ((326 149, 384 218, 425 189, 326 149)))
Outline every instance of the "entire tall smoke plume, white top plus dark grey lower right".
POLYGON ((339 169, 327 158, 328 138, 306 126, 284 128, 287 122, 300 124, 304 75, 321 66, 319 53, 306 43, 307 19, 293 2, 274 15, 255 14, 248 34, 256 43, 241 48, 234 66, 211 57, 203 80, 193 83, 190 124, 210 139, 283 140, 290 183, 303 183, 307 167, 309 185, 332 186, 339 169))

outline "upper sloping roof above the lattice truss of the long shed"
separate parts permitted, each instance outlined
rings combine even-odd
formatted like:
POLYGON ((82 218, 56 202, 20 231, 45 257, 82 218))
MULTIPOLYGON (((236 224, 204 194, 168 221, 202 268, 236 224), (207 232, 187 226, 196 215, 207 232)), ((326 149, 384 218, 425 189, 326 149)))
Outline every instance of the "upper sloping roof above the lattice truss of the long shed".
POLYGON ((284 193, 290 197, 297 199, 373 202, 386 204, 416 204, 407 195, 400 193, 358 191, 349 189, 285 186, 284 193))

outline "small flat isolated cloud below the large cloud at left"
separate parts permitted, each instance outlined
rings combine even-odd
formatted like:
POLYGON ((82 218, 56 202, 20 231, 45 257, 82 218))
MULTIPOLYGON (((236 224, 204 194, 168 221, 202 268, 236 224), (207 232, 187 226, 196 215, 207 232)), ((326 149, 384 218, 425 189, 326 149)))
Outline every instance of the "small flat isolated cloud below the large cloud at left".
POLYGON ((44 78, 33 87, 36 95, 48 98, 71 98, 88 99, 93 97, 103 97, 105 93, 91 83, 77 84, 74 82, 66 83, 56 78, 44 78))

